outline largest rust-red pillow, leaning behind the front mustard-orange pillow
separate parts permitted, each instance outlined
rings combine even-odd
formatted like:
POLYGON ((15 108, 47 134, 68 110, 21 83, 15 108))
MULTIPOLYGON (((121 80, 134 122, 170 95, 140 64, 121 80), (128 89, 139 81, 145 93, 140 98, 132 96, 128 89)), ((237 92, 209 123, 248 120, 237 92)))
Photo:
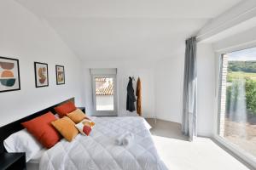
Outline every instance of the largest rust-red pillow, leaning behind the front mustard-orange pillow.
POLYGON ((45 148, 49 149, 61 139, 60 134, 50 124, 50 122, 55 120, 55 116, 49 111, 30 121, 22 122, 21 125, 25 127, 29 133, 32 133, 45 148))

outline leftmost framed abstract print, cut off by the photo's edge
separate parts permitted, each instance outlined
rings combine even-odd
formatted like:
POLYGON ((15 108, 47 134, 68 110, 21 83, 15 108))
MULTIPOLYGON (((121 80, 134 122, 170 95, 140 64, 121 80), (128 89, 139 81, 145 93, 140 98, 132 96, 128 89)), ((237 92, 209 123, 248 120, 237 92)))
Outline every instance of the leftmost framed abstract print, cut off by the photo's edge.
POLYGON ((19 59, 0 57, 0 93, 20 90, 19 59))

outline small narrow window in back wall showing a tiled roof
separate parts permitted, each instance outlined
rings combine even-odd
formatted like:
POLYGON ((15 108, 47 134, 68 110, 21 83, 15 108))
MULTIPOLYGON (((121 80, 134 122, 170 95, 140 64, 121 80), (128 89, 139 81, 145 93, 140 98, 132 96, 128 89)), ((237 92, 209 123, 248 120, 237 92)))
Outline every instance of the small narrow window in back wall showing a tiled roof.
POLYGON ((116 69, 90 69, 95 116, 117 114, 116 69))

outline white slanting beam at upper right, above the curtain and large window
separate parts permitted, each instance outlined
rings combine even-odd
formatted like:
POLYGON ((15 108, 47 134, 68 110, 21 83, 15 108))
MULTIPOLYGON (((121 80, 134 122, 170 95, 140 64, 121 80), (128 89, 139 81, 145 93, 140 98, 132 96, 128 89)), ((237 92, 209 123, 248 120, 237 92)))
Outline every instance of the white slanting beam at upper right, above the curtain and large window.
POLYGON ((233 8, 210 20, 206 26, 198 32, 199 41, 220 40, 224 37, 234 35, 234 33, 255 26, 255 21, 251 20, 256 15, 256 1, 241 1, 233 8), (246 23, 248 20, 252 23, 246 23), (239 26, 243 23, 243 26, 239 26), (245 26, 245 27, 244 27, 245 26))

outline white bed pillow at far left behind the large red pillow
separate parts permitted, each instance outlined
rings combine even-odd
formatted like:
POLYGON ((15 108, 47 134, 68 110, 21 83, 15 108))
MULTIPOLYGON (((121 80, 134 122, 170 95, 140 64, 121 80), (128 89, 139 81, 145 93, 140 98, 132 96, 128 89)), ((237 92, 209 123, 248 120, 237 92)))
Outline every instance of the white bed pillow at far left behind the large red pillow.
POLYGON ((43 146, 26 129, 11 134, 3 141, 8 152, 26 152, 26 161, 35 156, 43 146))

